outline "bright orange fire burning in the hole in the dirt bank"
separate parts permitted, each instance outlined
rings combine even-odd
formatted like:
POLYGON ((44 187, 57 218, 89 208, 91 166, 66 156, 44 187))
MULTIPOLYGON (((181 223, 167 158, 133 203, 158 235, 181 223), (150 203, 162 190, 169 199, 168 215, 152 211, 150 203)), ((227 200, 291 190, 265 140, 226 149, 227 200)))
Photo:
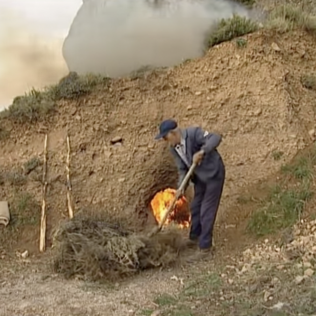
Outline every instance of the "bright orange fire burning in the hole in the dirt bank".
MULTIPOLYGON (((158 192, 152 199, 150 205, 158 223, 161 222, 168 206, 175 196, 176 190, 168 188, 158 192)), ((175 222, 181 228, 190 226, 191 215, 188 208, 188 201, 185 196, 182 196, 177 200, 174 210, 167 217, 164 225, 168 225, 171 222, 175 222)))

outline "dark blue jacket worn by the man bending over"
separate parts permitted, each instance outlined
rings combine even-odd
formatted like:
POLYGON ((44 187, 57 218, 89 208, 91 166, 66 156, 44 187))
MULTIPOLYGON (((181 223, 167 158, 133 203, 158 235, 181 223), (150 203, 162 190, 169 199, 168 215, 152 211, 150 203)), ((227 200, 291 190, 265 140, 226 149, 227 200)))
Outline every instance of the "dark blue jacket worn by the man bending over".
MULTIPOLYGON (((202 149, 205 151, 202 162, 195 167, 193 182, 194 178, 197 177, 198 180, 207 183, 221 174, 224 164, 216 148, 219 146, 222 137, 218 134, 208 133, 200 127, 189 127, 181 130, 181 133, 186 142, 186 154, 190 165, 192 164, 192 157, 196 152, 202 149)), ((170 151, 178 167, 179 187, 189 168, 174 147, 170 147, 170 151)))

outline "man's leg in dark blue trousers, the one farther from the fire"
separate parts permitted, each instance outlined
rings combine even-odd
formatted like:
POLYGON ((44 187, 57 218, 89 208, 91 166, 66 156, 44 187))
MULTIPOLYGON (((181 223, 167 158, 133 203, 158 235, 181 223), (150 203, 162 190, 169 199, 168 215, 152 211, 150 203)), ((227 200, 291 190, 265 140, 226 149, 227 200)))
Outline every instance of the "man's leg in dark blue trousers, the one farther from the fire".
POLYGON ((199 237, 200 249, 209 249, 212 246, 213 227, 220 203, 225 181, 225 172, 219 179, 214 179, 206 185, 206 192, 202 201, 200 223, 202 231, 199 237))

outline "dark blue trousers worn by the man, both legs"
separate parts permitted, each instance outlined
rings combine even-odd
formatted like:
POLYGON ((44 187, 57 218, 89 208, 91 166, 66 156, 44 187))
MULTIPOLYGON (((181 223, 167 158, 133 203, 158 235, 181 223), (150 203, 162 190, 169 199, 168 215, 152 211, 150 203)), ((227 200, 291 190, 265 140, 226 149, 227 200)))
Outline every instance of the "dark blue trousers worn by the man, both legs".
POLYGON ((225 169, 209 183, 194 181, 194 198, 191 203, 190 239, 197 240, 201 249, 212 246, 213 227, 225 182, 225 169))

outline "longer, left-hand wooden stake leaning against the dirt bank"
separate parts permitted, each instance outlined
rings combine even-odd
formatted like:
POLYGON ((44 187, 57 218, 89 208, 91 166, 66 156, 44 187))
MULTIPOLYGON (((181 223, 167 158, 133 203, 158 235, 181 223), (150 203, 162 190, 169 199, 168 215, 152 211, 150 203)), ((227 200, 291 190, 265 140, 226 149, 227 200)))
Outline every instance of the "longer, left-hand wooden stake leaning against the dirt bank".
POLYGON ((40 231, 40 251, 46 250, 46 192, 47 192, 47 134, 44 143, 44 165, 43 165, 43 189, 42 189, 42 214, 40 231))

